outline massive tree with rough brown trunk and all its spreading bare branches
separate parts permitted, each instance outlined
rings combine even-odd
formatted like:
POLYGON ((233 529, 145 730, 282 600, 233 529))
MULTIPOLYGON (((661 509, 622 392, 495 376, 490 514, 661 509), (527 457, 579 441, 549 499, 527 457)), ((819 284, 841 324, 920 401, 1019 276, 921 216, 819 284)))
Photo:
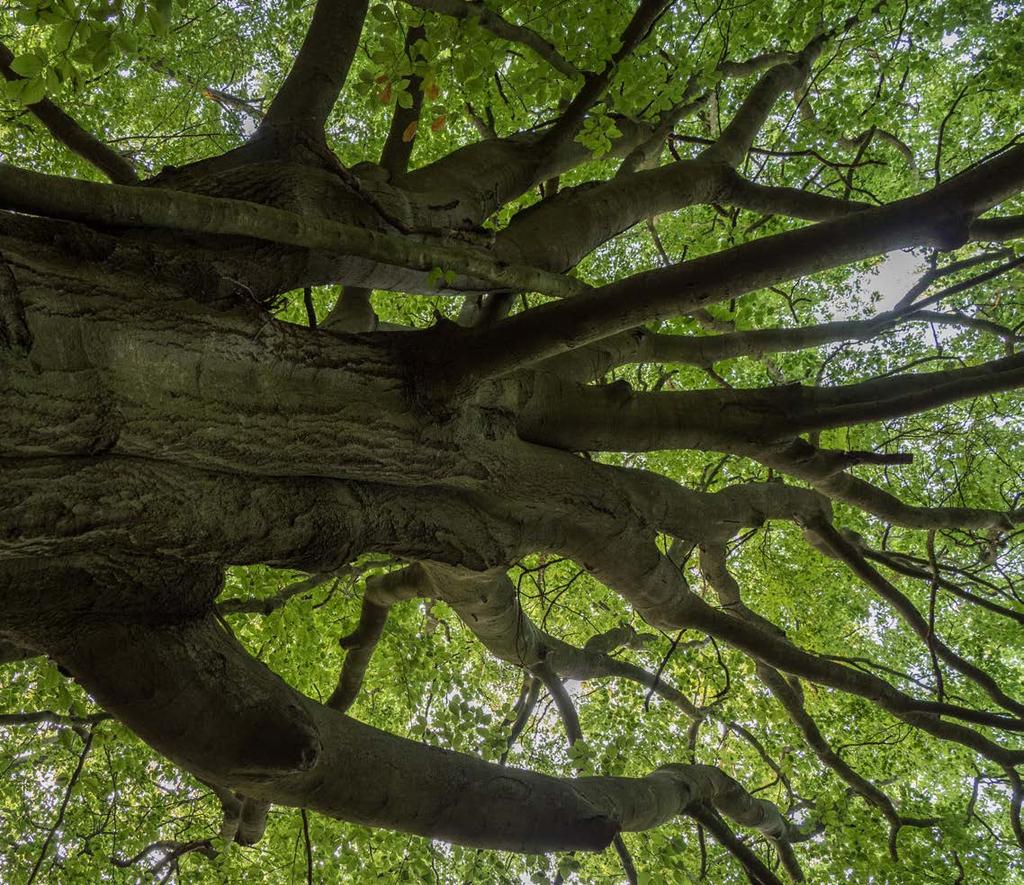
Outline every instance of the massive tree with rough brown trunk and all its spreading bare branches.
MULTIPOLYGON (((949 250, 1019 236, 1019 218, 978 216, 1024 187, 1024 149, 996 152, 930 192, 878 207, 847 199, 849 186, 839 199, 748 180, 742 163, 776 103, 804 88, 822 47, 857 24, 850 18, 802 51, 720 59, 709 69, 709 82, 763 76, 696 157, 658 165, 680 116, 712 98, 694 95, 694 76, 656 121, 616 118, 608 156, 628 158, 618 174, 557 193, 558 176, 590 159, 575 140, 580 127, 671 5, 641 0, 613 53, 583 78, 550 126, 509 137, 490 131, 409 170, 407 135, 415 135, 424 104, 417 74, 409 81, 413 102, 393 116, 381 163, 349 169, 330 150, 325 127, 360 45, 367 5, 316 4, 292 73, 247 143, 140 184, 124 158, 56 106, 33 106, 68 146, 122 183, 0 167, 0 663, 49 656, 106 713, 213 785, 224 832, 246 844, 260 838, 269 803, 280 803, 485 848, 597 850, 617 840, 630 875, 617 834, 687 813, 729 846, 752 879, 777 881, 732 837, 721 812, 770 839, 799 878, 790 842, 808 834, 717 768, 554 777, 428 748, 343 715, 391 608, 429 598, 447 603, 490 654, 524 671, 513 735, 543 683, 573 744, 581 726, 560 680, 612 676, 673 704, 691 720, 695 741, 697 726, 720 714, 668 684, 660 669, 648 673, 613 657, 617 643, 637 640, 635 630, 623 625, 575 647, 529 620, 506 571, 526 554, 554 553, 653 627, 695 630, 700 641, 720 640, 751 659, 822 764, 882 810, 893 850, 900 827, 931 821, 902 817, 829 746, 799 679, 865 699, 998 766, 1024 844, 1016 770, 1024 751, 991 736, 1024 731, 1024 705, 935 636, 934 612, 926 619, 867 561, 891 564, 888 554, 833 526, 830 499, 932 533, 933 607, 935 591, 950 583, 939 574, 935 530, 982 530, 997 539, 1024 513, 910 506, 845 472, 906 464, 910 456, 818 446, 822 430, 1020 387, 1016 331, 969 318, 972 329, 999 335, 1009 355, 847 386, 635 391, 625 381, 603 383, 622 366, 682 362, 725 386, 714 370, 722 360, 867 340, 911 319, 934 321, 918 304, 871 321, 707 337, 643 328, 682 313, 714 325, 708 305, 896 247, 949 250), (542 182, 539 203, 513 212, 502 229, 481 226, 542 182), (652 219, 689 206, 820 223, 673 264, 652 219), (667 266, 599 287, 568 275, 644 220, 667 266), (319 328, 311 306, 311 328, 272 317, 275 299, 319 284, 347 287, 347 300, 319 328), (373 311, 374 289, 472 300, 460 325, 438 319, 427 330, 377 331, 386 324, 373 311), (515 299, 532 293, 550 300, 506 319, 515 299), (580 454, 685 448, 744 456, 811 488, 744 481, 698 492, 580 454), (744 602, 726 544, 770 519, 798 523, 810 545, 895 608, 931 656, 936 699, 851 666, 852 659, 805 650, 744 602), (686 566, 698 548, 699 575, 686 566), (216 597, 230 565, 322 576, 364 553, 404 565, 365 582, 338 688, 318 704, 250 656, 216 597), (694 578, 707 586, 691 587, 694 578), (946 697, 940 660, 1001 710, 946 697)), ((437 11, 438 4, 413 5, 437 11)), ((580 73, 529 29, 477 5, 444 3, 440 11, 479 19, 561 73, 580 73)), ((409 32, 407 54, 423 33, 409 32)), ((2 73, 16 81, 14 56, 0 49, 2 73)), ((872 136, 873 127, 859 143, 866 149, 872 136)), ((928 283, 992 254, 933 267, 928 283)), ((1024 261, 1009 257, 974 282, 1024 261)), ((924 568, 902 567, 929 578, 924 568)), ((980 598, 963 589, 957 595, 980 598)), ((988 613, 1020 620, 982 601, 988 613)))

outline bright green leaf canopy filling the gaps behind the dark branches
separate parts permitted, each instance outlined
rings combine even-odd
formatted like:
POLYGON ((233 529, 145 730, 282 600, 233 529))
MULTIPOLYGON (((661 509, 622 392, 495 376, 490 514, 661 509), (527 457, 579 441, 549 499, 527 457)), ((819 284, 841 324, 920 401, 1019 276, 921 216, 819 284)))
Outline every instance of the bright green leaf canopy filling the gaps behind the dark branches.
MULTIPOLYGON (((509 20, 528 23, 581 70, 600 70, 614 51, 616 35, 629 15, 629 4, 612 0, 568 6, 510 0, 488 6, 500 6, 509 20)), ((577 137, 593 153, 593 161, 565 175, 561 186, 612 174, 614 164, 607 154, 620 134, 616 121, 656 119, 680 99, 691 75, 714 89, 716 102, 703 117, 681 121, 677 134, 703 138, 717 132, 752 82, 719 81, 715 71, 722 58, 742 60, 763 51, 799 48, 820 22, 842 20, 854 8, 855 4, 837 0, 758 2, 728 9, 703 0, 676 4, 649 44, 622 66, 607 103, 587 118, 577 137)), ((791 153, 752 155, 745 171, 757 174, 764 184, 816 182, 816 188, 842 196, 848 168, 842 164, 852 162, 856 151, 842 146, 841 139, 870 126, 898 134, 914 166, 909 167, 891 142, 872 142, 851 188, 857 199, 889 201, 927 184, 934 177, 940 129, 944 176, 978 161, 1001 146, 1020 125, 1021 11, 1015 2, 885 4, 878 15, 841 41, 835 57, 821 66, 811 92, 813 118, 801 119, 795 103, 783 101, 758 138, 766 151, 791 153), (962 100, 951 112, 957 95, 962 100), (834 165, 823 166, 820 156, 834 165)), ((11 67, 25 79, 5 86, 6 100, 0 107, 5 157, 16 157, 20 165, 40 170, 96 175, 55 146, 24 113, 24 106, 44 96, 59 100, 86 128, 102 133, 109 143, 153 172, 234 146, 252 131, 254 118, 237 104, 218 102, 211 90, 259 108, 287 72, 309 14, 308 4, 293 0, 231 4, 180 0, 173 5, 170 0, 18 0, 7 30, 15 53, 11 67)), ((376 3, 347 90, 330 123, 332 146, 344 162, 376 159, 395 104, 413 103, 409 92, 413 76, 424 81, 423 120, 431 121, 418 129, 414 165, 477 137, 469 108, 479 114, 489 110, 498 132, 510 134, 554 119, 580 85, 472 20, 425 17, 401 3, 376 3), (407 53, 406 32, 421 22, 427 23, 427 37, 407 53)), ((685 137, 675 146, 687 156, 698 150, 685 137)), ((490 226, 501 226, 537 199, 537 194, 525 195, 492 219, 490 226)), ((666 252, 677 260, 684 252, 688 257, 710 254, 797 222, 709 207, 669 214, 656 224, 666 252)), ((970 254, 970 248, 963 254, 970 254)), ((916 256, 922 262, 926 257, 916 256)), ((641 225, 596 250, 581 265, 579 276, 601 283, 659 261, 649 233, 641 225)), ((880 304, 892 303, 900 294, 887 265, 881 266, 881 272, 880 262, 867 262, 853 272, 821 273, 717 305, 712 312, 739 330, 871 315, 880 304)), ((447 267, 435 267, 430 275, 434 287, 455 280, 455 271, 447 267)), ((336 298, 335 290, 314 292, 322 318, 336 298)), ((458 305, 442 296, 377 293, 374 304, 383 321, 421 328, 437 313, 454 318, 458 312, 458 305)), ((1024 323, 1020 287, 1005 279, 950 298, 944 309, 1013 329, 1024 323)), ((301 298, 291 299, 279 319, 304 323, 301 298)), ((689 318, 666 322, 659 331, 707 334, 689 318)), ((907 367, 994 359, 1000 347, 997 339, 976 329, 939 331, 919 325, 866 345, 777 354, 771 365, 751 359, 727 361, 716 366, 718 380, 692 366, 639 366, 611 377, 628 380, 638 389, 696 389, 718 383, 839 384, 907 367)), ((1007 508, 1019 504, 1022 430, 1019 397, 996 394, 927 415, 826 431, 821 441, 857 450, 912 446, 919 453, 912 464, 864 467, 858 472, 911 504, 1007 508)), ((753 462, 732 458, 719 463, 719 456, 705 453, 606 458, 713 491, 769 478, 753 462)), ((847 507, 837 508, 837 521, 861 533, 874 547, 886 545, 927 561, 923 533, 887 531, 878 520, 847 507)), ((1020 539, 1015 535, 1002 541, 998 561, 980 570, 978 581, 968 583, 976 592, 986 593, 983 581, 999 582, 1000 602, 1020 610, 1020 539), (1002 592, 1007 586, 1011 590, 1002 592)), ((939 533, 936 544, 942 558, 965 567, 976 565, 986 549, 985 538, 957 532, 939 533)), ((884 662, 888 676, 907 690, 920 691, 931 678, 922 643, 848 572, 809 547, 799 530, 769 524, 744 536, 732 555, 730 564, 746 603, 782 627, 799 645, 825 655, 884 662)), ((683 567, 691 586, 712 600, 695 556, 683 567)), ((358 618, 365 577, 329 582, 270 614, 229 616, 231 629, 293 685, 324 698, 342 662, 337 638, 358 618)), ((534 557, 519 563, 513 577, 526 613, 565 641, 582 645, 624 621, 644 629, 617 595, 573 563, 534 557)), ((927 610, 927 582, 891 577, 920 610, 927 610)), ((298 576, 268 567, 236 568, 223 598, 269 598, 295 580, 298 576)), ((1024 694, 1019 625, 943 594, 937 629, 1011 694, 1024 694)), ((812 882, 1024 882, 1019 852, 1008 847, 1013 842, 1005 810, 1008 787, 995 772, 978 769, 969 754, 949 745, 938 747, 934 739, 896 723, 864 701, 807 687, 808 712, 847 762, 865 777, 886 785, 903 813, 940 819, 941 827, 934 830, 901 832, 897 865, 887 850, 885 820, 822 767, 779 705, 753 678, 750 660, 710 643, 690 644, 699 639, 695 634, 680 637, 677 650, 670 654, 672 639, 659 635, 643 648, 617 654, 660 672, 697 704, 717 700, 717 719, 701 726, 692 751, 688 723, 678 710, 647 698, 632 683, 604 681, 569 686, 577 696, 585 741, 566 747, 553 705, 545 698, 512 748, 510 764, 557 774, 642 775, 659 764, 688 760, 692 752, 698 761, 718 764, 757 788, 757 795, 793 809, 797 819, 823 826, 823 835, 800 848, 812 882), (726 722, 737 722, 757 734, 792 792, 756 748, 729 730, 726 722), (977 799, 969 815, 973 790, 977 799)), ((95 712, 84 692, 45 661, 6 665, 0 672, 0 710, 52 710, 79 717, 95 712)), ((406 603, 395 607, 351 712, 395 733, 495 760, 506 749, 520 678, 514 668, 496 662, 444 605, 406 603)), ((950 690, 958 697, 987 705, 973 684, 951 682, 950 690)), ((81 726, 66 724, 0 726, 0 845, 10 846, 0 853, 0 880, 14 883, 28 878, 78 764, 85 733, 81 726)), ((146 868, 159 866, 159 853, 125 869, 112 865, 111 858, 127 860, 161 840, 189 842, 216 834, 218 805, 208 788, 156 756, 116 722, 99 722, 93 733, 81 778, 55 835, 55 848, 47 855, 39 881, 139 881, 146 868)), ((566 881, 622 879, 611 852, 524 858, 371 831, 318 815, 309 817, 309 835, 315 881, 322 882, 547 882, 556 871, 566 881)), ((214 861, 189 853, 180 860, 179 881, 305 881, 302 841, 299 813, 275 808, 258 847, 225 846, 214 861)), ((641 881, 697 881, 701 853, 692 821, 629 835, 627 843, 642 871, 641 881)), ((750 843, 761 856, 771 856, 763 840, 751 838, 750 843)), ((745 881, 734 861, 710 840, 705 862, 706 881, 723 885, 745 881)))

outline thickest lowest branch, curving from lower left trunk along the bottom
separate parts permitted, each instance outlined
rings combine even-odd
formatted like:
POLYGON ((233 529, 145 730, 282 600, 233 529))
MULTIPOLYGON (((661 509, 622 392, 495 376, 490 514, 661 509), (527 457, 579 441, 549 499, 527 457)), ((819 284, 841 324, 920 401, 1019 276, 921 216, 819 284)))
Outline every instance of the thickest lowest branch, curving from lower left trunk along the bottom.
POLYGON ((641 778, 549 777, 362 725, 287 685, 202 610, 200 600, 217 590, 214 570, 166 568, 151 563, 144 574, 183 605, 177 620, 152 622, 145 599, 127 601, 125 585, 73 571, 51 580, 79 599, 108 597, 102 608, 72 634, 48 629, 53 622, 24 629, 105 709, 205 782, 254 801, 526 852, 601 849, 620 832, 706 802, 767 835, 791 833, 773 805, 712 766, 666 766, 641 778), (112 592, 120 604, 108 608, 112 592))

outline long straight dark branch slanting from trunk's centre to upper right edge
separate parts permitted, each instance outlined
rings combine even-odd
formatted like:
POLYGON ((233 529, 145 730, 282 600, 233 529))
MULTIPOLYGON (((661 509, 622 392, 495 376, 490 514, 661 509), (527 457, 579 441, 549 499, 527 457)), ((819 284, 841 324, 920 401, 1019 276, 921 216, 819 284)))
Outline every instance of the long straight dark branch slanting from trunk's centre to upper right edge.
POLYGON ((1024 187, 1024 146, 931 192, 877 209, 765 237, 673 267, 639 273, 466 336, 450 375, 504 374, 643 323, 897 248, 951 248, 970 222, 1024 187))

